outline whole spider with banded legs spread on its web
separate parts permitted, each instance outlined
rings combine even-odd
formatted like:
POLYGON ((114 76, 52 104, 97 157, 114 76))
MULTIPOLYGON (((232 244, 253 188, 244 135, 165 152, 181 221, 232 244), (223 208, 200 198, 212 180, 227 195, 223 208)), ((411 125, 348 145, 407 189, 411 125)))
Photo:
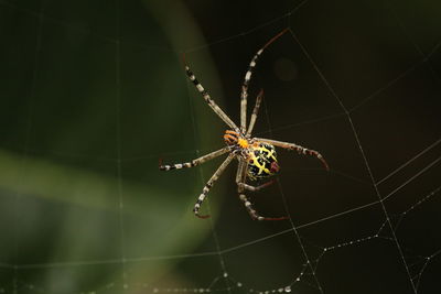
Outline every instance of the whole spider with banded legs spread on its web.
POLYGON ((277 161, 275 146, 287 150, 294 150, 298 151, 300 154, 314 155, 323 163, 324 167, 329 171, 329 165, 326 161, 319 152, 314 150, 310 150, 293 143, 287 143, 263 138, 251 138, 251 132, 257 120, 260 102, 263 97, 263 90, 260 90, 260 92, 258 94, 248 127, 246 124, 248 85, 251 79, 256 62, 263 52, 263 50, 268 47, 272 42, 275 42, 278 37, 280 37, 283 33, 286 33, 287 30, 288 29, 283 30, 282 32, 273 36, 271 40, 269 40, 263 45, 263 47, 261 47, 256 53, 256 55, 252 57, 249 64, 248 70, 245 74, 245 80, 241 86, 241 94, 240 94, 240 128, 238 128, 233 122, 233 120, 216 105, 216 102, 211 98, 207 90, 204 89, 201 83, 196 79, 195 75, 190 70, 190 67, 185 65, 185 72, 190 80, 194 84, 198 92, 203 96, 203 98, 213 109, 213 111, 230 128, 230 130, 226 130, 224 134, 224 140, 226 143, 225 148, 186 163, 176 163, 172 165, 162 165, 160 163, 159 168, 161 171, 179 170, 184 167, 193 167, 203 164, 209 160, 213 160, 217 156, 220 156, 225 153, 228 153, 228 156, 225 159, 225 161, 220 164, 217 171, 212 175, 212 177, 205 184, 202 194, 198 196, 196 204, 194 205, 193 213, 198 218, 209 217, 208 215, 200 214, 201 205, 206 198, 209 189, 213 187, 217 178, 220 176, 220 174, 225 171, 225 168, 234 159, 238 160, 238 168, 236 173, 237 193, 239 195, 239 199, 244 203, 245 208, 247 209, 248 214, 254 220, 287 219, 287 217, 263 217, 259 215, 259 213, 252 207, 252 204, 245 194, 246 190, 257 192, 273 183, 273 181, 269 181, 262 185, 252 186, 250 184, 247 184, 247 179, 262 181, 279 172, 280 167, 277 161))

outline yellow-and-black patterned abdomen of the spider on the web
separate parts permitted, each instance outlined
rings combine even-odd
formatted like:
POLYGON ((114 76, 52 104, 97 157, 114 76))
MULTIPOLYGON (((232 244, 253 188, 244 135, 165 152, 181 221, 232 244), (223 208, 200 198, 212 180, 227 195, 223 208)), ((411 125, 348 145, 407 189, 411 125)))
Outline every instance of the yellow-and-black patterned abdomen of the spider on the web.
POLYGON ((248 171, 250 179, 260 179, 275 175, 279 171, 276 149, 271 144, 255 143, 248 148, 248 171))

